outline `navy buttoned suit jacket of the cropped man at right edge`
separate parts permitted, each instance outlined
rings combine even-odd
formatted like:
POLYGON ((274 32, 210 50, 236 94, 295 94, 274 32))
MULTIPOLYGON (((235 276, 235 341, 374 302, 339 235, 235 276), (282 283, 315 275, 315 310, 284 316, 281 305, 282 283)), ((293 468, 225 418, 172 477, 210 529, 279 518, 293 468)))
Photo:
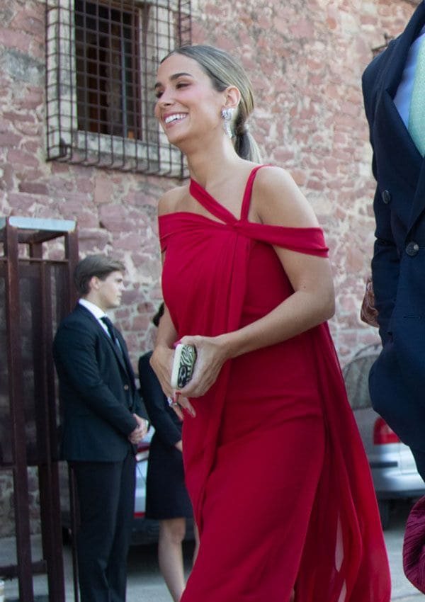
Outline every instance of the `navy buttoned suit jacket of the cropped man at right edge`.
POLYGON ((370 372, 373 407, 402 441, 425 451, 425 161, 394 104, 412 42, 425 23, 421 2, 396 40, 363 74, 373 146, 372 261, 382 353, 370 372))

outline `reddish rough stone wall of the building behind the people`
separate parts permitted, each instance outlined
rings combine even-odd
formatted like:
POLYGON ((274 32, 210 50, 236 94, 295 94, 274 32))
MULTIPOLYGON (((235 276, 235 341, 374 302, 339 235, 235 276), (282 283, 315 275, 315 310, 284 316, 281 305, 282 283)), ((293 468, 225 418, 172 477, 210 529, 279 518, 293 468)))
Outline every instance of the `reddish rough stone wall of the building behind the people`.
MULTIPOLYGON (((361 73, 414 1, 198 0, 193 41, 241 58, 256 89, 251 131, 264 160, 293 174, 327 234, 341 362, 376 333, 358 319, 373 245, 370 148, 361 73), (354 4, 358 10, 353 11, 354 4)), ((159 304, 157 199, 167 178, 45 161, 43 1, 0 7, 0 214, 77 219, 81 254, 119 256, 128 289, 116 312, 136 362, 159 304)))

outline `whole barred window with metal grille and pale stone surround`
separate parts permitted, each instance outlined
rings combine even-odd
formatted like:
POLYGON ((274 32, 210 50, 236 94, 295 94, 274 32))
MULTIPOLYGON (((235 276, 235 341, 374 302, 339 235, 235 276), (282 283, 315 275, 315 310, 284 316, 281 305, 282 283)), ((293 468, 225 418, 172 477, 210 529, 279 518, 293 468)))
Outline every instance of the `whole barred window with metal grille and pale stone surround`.
POLYGON ((191 43, 191 0, 47 0, 47 159, 184 177, 154 118, 159 61, 191 43))

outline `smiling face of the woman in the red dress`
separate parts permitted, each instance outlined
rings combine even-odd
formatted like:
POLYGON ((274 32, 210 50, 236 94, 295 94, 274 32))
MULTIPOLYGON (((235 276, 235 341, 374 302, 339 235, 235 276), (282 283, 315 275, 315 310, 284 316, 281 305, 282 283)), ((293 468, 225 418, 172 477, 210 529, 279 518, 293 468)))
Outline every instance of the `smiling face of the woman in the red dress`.
POLYGON ((171 144, 188 136, 223 133, 221 109, 225 93, 212 87, 210 77, 196 60, 174 54, 159 65, 155 85, 155 117, 171 144))

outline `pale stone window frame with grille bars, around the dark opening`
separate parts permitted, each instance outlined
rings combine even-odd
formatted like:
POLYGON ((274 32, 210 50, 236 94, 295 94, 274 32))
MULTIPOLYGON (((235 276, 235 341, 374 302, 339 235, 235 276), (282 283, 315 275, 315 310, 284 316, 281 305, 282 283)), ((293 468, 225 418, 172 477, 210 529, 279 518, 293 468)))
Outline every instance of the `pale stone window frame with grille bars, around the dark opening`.
POLYGON ((139 92, 142 140, 79 130, 74 0, 46 2, 47 160, 186 177, 179 149, 171 147, 154 118, 154 81, 159 60, 176 45, 191 43, 191 0, 89 0, 138 11, 139 92), (145 8, 145 7, 148 7, 145 8), (152 12, 152 18, 147 18, 152 12), (183 26, 182 26, 183 23, 183 26))

